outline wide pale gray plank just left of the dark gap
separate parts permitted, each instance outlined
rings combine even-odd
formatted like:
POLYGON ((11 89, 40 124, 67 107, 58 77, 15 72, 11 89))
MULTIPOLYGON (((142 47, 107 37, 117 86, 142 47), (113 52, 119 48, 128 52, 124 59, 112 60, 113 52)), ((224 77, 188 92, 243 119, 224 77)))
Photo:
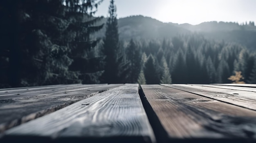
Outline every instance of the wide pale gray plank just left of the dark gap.
POLYGON ((138 86, 125 84, 11 128, 4 141, 155 142, 138 86))

